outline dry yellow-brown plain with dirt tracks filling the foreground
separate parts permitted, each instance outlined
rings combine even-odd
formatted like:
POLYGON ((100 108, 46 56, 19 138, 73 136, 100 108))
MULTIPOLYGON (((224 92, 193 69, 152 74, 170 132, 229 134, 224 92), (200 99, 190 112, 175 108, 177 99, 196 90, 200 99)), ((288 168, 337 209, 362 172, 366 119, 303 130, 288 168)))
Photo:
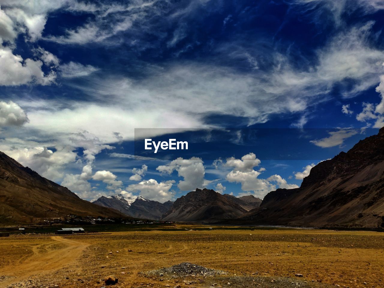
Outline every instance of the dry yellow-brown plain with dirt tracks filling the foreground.
POLYGON ((178 228, 0 238, 0 287, 384 287, 383 233, 178 228), (228 275, 142 273, 182 262, 228 275))

